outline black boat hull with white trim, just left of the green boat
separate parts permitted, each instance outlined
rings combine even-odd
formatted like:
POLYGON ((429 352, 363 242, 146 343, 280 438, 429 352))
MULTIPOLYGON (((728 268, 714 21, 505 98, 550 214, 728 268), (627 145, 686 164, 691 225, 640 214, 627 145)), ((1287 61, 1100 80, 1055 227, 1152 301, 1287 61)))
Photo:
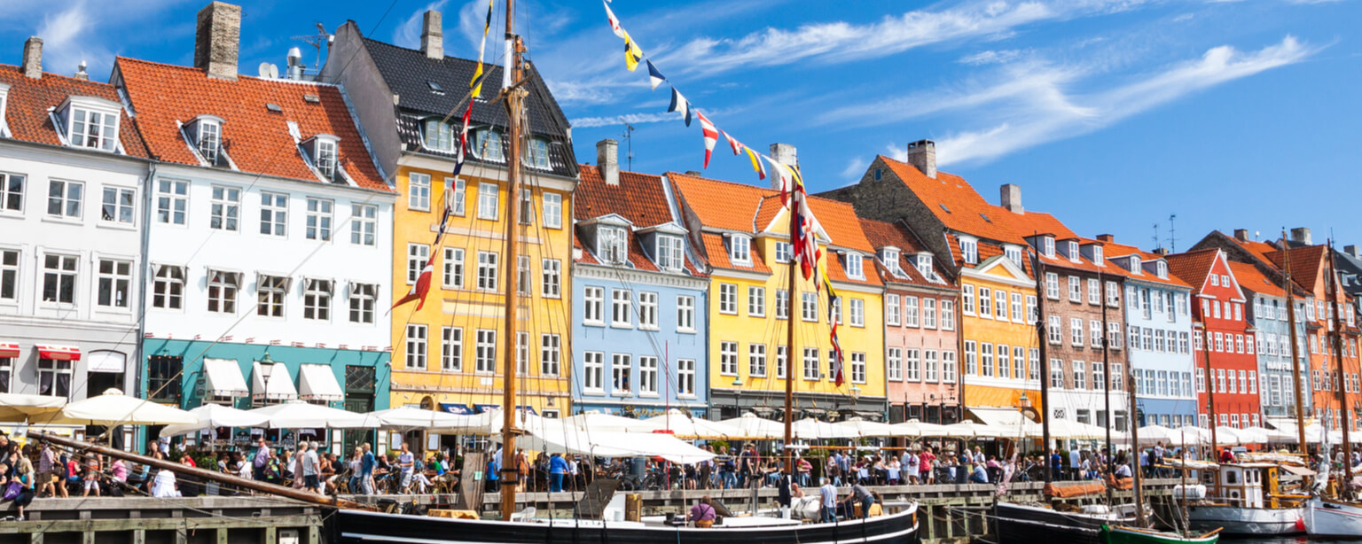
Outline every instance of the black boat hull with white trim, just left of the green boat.
POLYGON ((1000 544, 1102 544, 1102 526, 1118 521, 1114 514, 1079 514, 1038 506, 998 502, 993 520, 1000 544))

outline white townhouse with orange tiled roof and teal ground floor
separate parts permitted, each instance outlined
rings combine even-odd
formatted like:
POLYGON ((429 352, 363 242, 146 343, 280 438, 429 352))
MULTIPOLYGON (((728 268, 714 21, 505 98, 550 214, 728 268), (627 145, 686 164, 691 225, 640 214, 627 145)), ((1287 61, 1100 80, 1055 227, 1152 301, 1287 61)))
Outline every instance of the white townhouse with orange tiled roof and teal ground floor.
POLYGON ((193 67, 120 57, 110 78, 159 159, 144 390, 184 408, 387 408, 395 193, 340 88, 237 73, 240 20, 211 3, 193 67))

